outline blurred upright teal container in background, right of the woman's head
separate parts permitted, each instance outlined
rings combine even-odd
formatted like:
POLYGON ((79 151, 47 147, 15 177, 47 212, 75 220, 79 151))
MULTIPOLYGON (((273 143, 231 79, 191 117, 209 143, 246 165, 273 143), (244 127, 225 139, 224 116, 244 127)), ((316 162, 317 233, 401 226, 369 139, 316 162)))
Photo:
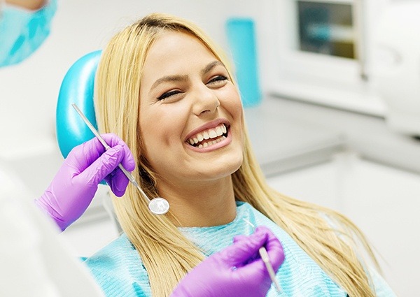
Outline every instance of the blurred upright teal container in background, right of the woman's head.
POLYGON ((251 18, 232 17, 226 22, 226 34, 242 103, 245 108, 258 106, 262 96, 254 22, 251 18))

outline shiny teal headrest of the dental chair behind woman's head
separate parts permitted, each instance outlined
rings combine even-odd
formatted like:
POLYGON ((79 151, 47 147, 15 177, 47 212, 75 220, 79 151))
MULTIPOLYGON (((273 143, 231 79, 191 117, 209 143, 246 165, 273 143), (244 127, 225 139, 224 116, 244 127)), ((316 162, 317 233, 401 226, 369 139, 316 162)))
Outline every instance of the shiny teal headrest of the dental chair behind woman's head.
POLYGON ((56 132, 59 150, 63 157, 75 147, 94 138, 71 103, 76 103, 87 119, 97 128, 94 115, 94 76, 102 50, 90 52, 78 59, 67 71, 59 89, 56 110, 56 132))

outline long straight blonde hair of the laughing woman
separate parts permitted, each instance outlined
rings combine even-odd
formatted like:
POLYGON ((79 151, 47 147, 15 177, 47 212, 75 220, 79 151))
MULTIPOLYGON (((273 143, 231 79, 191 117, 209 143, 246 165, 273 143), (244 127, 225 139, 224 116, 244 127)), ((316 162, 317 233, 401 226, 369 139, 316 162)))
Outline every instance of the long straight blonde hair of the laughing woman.
MULTIPOLYGON (((138 127, 140 80, 148 50, 167 30, 193 34, 228 67, 221 50, 195 24, 154 13, 111 39, 102 53, 96 78, 95 109, 99 130, 116 133, 130 147, 138 165, 133 175, 149 197, 159 195, 153 168, 142 154, 138 127)), ((356 252, 356 241, 360 240, 377 264, 363 234, 343 215, 283 196, 267 186, 247 133, 244 161, 232 174, 232 181, 237 200, 250 203, 287 231, 349 296, 374 296, 364 263, 356 252)), ((181 278, 204 259, 202 252, 177 229, 170 212, 165 216, 152 215, 131 185, 123 198, 113 199, 113 204, 120 225, 148 272, 153 296, 169 296, 181 278)))

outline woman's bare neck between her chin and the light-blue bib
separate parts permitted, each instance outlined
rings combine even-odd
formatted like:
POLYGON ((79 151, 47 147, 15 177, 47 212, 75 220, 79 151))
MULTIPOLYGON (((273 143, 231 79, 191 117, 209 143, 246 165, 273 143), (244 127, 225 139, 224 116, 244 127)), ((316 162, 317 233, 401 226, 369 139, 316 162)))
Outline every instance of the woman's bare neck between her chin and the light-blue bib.
POLYGON ((176 226, 220 226, 232 222, 236 217, 230 176, 184 187, 162 185, 159 188, 162 197, 169 201, 169 211, 175 218, 176 226))

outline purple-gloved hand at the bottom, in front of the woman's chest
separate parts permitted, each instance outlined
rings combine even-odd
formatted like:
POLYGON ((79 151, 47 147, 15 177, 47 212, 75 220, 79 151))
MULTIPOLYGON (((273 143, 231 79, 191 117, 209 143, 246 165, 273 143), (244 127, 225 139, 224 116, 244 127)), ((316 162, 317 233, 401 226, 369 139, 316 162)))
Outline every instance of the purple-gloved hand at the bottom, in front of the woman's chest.
POLYGON ((272 282, 258 249, 267 249, 276 272, 283 247, 272 231, 259 226, 251 236, 235 236, 233 245, 209 256, 190 271, 170 297, 262 297, 272 282))

